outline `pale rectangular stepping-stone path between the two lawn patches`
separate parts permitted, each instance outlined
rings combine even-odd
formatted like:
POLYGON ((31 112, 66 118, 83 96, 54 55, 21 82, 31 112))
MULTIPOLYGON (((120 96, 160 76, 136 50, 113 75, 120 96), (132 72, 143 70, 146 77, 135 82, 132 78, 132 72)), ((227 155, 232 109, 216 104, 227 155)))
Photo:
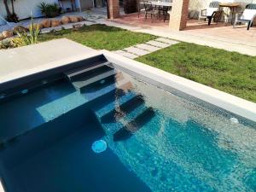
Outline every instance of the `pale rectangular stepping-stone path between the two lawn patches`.
POLYGON ((169 38, 156 38, 146 42, 145 44, 137 44, 125 49, 116 50, 114 53, 130 59, 135 59, 138 56, 147 55, 154 51, 172 46, 173 44, 178 44, 178 42, 169 38))

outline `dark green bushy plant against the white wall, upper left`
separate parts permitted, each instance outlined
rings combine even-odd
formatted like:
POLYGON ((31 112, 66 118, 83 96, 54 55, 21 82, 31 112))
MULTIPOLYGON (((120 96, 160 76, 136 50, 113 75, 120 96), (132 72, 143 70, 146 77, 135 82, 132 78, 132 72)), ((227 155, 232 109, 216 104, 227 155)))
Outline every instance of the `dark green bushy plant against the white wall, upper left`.
POLYGON ((43 2, 40 3, 38 7, 41 10, 41 13, 48 18, 52 18, 61 14, 61 9, 56 3, 49 4, 43 2))

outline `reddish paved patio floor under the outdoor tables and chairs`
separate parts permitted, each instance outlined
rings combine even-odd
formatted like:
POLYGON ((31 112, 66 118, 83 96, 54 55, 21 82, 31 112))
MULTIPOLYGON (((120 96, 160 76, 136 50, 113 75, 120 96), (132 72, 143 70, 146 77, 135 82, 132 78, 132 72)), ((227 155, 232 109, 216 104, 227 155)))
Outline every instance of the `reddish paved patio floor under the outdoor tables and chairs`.
MULTIPOLYGON (((169 20, 164 22, 164 20, 159 19, 145 19, 143 15, 138 18, 137 13, 122 15, 121 18, 113 21, 125 25, 140 26, 145 29, 168 30, 169 26, 169 20)), ((241 44, 253 44, 256 46, 256 26, 247 31, 246 26, 233 28, 230 24, 226 26, 223 22, 212 23, 211 26, 208 26, 204 20, 188 20, 187 28, 183 33, 201 37, 226 38, 226 40, 236 40, 240 41, 241 44)))

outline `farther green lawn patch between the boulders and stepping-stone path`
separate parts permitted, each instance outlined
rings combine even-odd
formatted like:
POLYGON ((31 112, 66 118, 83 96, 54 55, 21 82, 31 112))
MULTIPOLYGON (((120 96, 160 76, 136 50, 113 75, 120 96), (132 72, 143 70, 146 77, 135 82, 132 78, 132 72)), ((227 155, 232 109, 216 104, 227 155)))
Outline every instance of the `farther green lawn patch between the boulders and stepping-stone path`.
POLYGON ((82 26, 77 30, 67 29, 45 33, 40 35, 38 40, 44 42, 55 38, 69 38, 94 49, 117 50, 134 44, 141 44, 157 37, 98 24, 82 26))

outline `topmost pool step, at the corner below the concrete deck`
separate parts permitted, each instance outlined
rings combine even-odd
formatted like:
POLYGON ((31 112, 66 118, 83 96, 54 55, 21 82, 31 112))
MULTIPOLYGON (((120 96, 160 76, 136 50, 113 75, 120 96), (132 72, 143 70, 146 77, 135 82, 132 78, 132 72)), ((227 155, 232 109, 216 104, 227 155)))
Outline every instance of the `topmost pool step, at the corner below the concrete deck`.
POLYGON ((109 64, 110 64, 109 61, 106 61, 106 62, 96 61, 96 62, 92 62, 90 65, 86 65, 84 67, 79 67, 79 68, 73 69, 71 71, 68 71, 65 74, 68 79, 70 79, 71 81, 74 81, 76 79, 83 77, 84 75, 86 76, 86 74, 88 74, 92 70, 95 70, 96 68, 104 67, 109 64))

